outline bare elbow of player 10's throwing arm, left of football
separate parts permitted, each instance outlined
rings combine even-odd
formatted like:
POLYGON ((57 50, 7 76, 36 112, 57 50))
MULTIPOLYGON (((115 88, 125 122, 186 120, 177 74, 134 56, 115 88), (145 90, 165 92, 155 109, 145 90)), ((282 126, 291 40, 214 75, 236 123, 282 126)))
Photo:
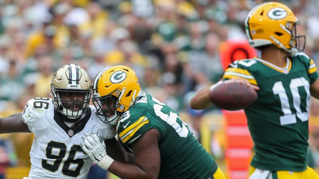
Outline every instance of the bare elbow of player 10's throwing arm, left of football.
POLYGON ((200 89, 190 100, 192 109, 206 109, 212 105, 209 100, 210 86, 200 89))

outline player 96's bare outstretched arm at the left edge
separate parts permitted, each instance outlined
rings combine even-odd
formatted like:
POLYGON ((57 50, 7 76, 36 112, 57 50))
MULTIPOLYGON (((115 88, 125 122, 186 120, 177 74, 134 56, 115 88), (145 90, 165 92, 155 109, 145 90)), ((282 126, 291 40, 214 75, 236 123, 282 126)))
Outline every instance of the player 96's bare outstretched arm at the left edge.
POLYGON ((22 113, 15 113, 7 117, 0 117, 0 133, 30 132, 22 120, 22 113))

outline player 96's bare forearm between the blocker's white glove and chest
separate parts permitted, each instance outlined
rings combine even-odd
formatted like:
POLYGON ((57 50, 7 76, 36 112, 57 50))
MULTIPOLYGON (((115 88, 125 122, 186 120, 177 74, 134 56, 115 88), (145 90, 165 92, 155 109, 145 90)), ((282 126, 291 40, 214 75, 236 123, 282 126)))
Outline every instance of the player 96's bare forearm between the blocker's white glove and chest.
POLYGON ((129 164, 134 163, 133 154, 127 152, 115 137, 105 140, 104 142, 107 145, 107 153, 114 160, 129 164))

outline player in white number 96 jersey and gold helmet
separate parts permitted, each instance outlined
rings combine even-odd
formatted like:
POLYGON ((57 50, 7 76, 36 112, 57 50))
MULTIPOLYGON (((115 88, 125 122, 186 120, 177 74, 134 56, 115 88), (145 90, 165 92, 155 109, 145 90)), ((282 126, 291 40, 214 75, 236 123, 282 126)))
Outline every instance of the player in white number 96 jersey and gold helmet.
POLYGON ((64 65, 51 81, 52 98, 29 100, 22 113, 0 118, 0 133, 33 132, 29 179, 85 178, 92 160, 80 147, 84 133, 97 133, 107 152, 123 162, 130 154, 115 139, 115 127, 103 123, 89 104, 92 83, 85 70, 64 65))

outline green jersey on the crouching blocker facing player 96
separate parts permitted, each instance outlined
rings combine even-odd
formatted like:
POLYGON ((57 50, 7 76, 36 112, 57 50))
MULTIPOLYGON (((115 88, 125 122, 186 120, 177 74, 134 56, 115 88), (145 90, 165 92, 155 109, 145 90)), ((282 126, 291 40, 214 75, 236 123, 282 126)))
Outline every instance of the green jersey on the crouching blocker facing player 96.
POLYGON ((217 163, 188 130, 180 115, 170 107, 142 92, 135 104, 120 117, 116 126, 120 141, 126 147, 146 131, 160 133, 158 146, 161 168, 158 178, 209 178, 217 163))

